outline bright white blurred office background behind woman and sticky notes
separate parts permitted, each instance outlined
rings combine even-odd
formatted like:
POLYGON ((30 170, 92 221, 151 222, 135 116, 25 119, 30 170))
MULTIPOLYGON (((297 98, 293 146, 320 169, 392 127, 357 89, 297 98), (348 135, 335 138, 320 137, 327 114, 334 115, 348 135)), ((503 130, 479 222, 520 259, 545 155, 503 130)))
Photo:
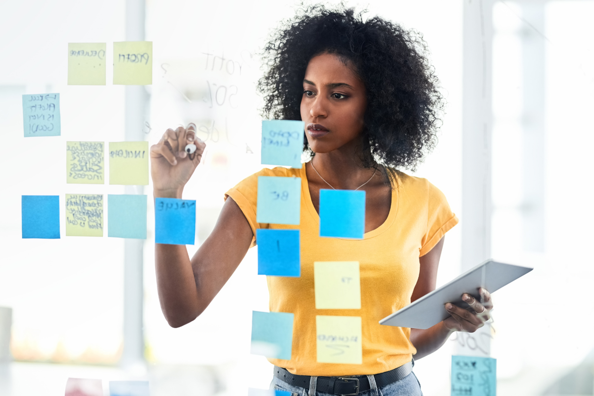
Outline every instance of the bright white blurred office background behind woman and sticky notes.
MULTIPOLYGON (((421 32, 441 80, 440 142, 415 172, 461 220, 438 286, 489 257, 535 268, 494 294, 494 322, 476 339, 453 335, 416 362, 424 394, 450 394, 460 353, 497 359, 500 395, 593 395, 594 1, 345 4, 421 32)), ((67 185, 65 142, 154 144, 195 122, 207 151, 184 191, 197 201, 192 255, 225 191, 261 169, 258 53, 297 9, 293 0, 0 4, 0 395, 63 395, 68 377, 148 379, 154 396, 268 388, 272 366, 249 354, 251 311, 268 309, 257 248, 203 315, 170 328, 156 290, 151 186, 67 185), (69 42, 108 43, 110 65, 112 42, 141 39, 153 42, 152 85, 112 85, 110 66, 105 86, 67 85, 69 42), (60 137, 23 138, 21 95, 39 93, 60 93, 60 137), (146 241, 65 237, 64 218, 62 239, 21 239, 21 195, 59 195, 63 205, 66 193, 124 192, 149 195, 146 241)))

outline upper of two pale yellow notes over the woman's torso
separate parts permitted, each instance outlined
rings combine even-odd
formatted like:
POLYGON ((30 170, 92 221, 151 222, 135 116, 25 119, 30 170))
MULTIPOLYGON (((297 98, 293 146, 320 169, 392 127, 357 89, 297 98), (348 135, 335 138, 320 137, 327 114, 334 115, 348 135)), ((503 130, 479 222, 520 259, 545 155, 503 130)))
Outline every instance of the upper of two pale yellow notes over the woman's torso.
POLYGON ((314 262, 315 309, 361 309, 358 261, 314 262))

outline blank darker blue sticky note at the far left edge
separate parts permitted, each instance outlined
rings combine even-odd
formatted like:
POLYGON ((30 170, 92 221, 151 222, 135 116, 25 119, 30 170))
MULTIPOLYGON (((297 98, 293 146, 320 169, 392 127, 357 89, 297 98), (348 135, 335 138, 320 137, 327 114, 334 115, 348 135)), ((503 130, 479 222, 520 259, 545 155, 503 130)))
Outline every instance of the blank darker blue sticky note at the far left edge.
POLYGON ((23 195, 21 217, 23 238, 58 239, 60 237, 58 195, 23 195))

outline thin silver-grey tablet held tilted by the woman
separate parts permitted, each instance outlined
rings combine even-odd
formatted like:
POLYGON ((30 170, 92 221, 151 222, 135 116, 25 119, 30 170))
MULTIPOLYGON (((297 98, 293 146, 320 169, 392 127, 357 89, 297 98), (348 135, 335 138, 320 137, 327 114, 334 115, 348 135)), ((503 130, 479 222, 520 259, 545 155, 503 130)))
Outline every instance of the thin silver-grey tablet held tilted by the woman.
POLYGON ((480 300, 479 287, 493 293, 530 271, 532 268, 529 267, 487 260, 405 308, 386 316, 381 319, 380 324, 416 329, 432 327, 450 316, 445 311, 445 303, 469 308, 469 305, 462 301, 462 294, 468 293, 480 300))

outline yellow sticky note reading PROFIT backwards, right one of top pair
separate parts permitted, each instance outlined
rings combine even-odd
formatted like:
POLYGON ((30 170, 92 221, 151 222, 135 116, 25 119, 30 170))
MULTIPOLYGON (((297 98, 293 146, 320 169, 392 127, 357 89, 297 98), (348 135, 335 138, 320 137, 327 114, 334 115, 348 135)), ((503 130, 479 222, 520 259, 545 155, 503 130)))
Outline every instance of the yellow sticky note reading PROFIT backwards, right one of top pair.
POLYGON ((113 43, 113 84, 153 84, 153 42, 113 43))

